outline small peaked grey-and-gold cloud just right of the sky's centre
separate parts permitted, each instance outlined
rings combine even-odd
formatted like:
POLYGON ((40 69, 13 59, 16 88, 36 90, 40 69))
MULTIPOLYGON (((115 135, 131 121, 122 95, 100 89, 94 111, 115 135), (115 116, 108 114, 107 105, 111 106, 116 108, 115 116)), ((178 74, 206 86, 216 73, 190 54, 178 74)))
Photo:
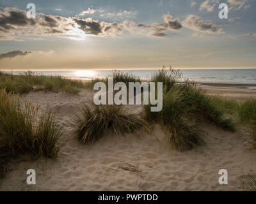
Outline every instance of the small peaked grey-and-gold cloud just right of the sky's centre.
POLYGON ((154 22, 152 25, 138 24, 137 26, 145 31, 151 31, 149 35, 156 37, 164 37, 164 31, 172 30, 179 31, 182 29, 179 19, 173 19, 172 15, 163 15, 163 23, 154 22))

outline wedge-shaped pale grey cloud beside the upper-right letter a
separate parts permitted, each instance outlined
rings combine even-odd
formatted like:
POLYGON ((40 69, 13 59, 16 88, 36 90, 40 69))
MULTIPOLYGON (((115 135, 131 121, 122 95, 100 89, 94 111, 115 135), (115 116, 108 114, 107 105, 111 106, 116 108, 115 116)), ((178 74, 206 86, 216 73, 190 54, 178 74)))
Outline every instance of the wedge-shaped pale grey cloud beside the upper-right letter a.
POLYGON ((210 20, 203 20, 202 17, 198 17, 196 15, 188 15, 186 19, 182 22, 184 27, 188 27, 193 31, 211 33, 211 34, 221 34, 223 33, 223 29, 217 27, 210 20))

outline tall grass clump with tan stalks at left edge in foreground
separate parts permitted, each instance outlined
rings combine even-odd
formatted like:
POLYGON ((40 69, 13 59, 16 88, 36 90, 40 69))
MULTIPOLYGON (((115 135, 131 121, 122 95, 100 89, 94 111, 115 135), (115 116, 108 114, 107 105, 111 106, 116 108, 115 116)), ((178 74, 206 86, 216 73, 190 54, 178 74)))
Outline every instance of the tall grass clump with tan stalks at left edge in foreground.
POLYGON ((22 106, 13 93, 0 91, 0 171, 4 170, 3 161, 20 154, 57 156, 63 132, 51 112, 38 119, 38 108, 29 102, 22 106))

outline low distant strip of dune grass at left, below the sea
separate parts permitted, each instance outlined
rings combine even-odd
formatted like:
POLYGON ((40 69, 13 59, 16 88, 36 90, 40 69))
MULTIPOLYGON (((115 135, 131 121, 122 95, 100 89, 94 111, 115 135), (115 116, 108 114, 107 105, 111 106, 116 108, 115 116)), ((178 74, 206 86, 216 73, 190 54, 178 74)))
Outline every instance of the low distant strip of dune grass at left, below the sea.
POLYGON ((0 89, 19 94, 28 93, 33 89, 38 91, 68 92, 77 94, 84 88, 81 80, 71 80, 60 76, 36 75, 28 71, 20 75, 11 75, 1 72, 0 89))

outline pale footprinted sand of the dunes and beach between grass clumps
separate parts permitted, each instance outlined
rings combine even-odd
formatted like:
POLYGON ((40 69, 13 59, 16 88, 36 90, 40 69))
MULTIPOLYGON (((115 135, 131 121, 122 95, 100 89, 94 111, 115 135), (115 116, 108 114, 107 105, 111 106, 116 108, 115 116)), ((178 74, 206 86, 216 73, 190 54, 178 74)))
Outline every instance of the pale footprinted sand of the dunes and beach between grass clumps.
MULTIPOLYGON (((205 88, 210 94, 219 90, 241 100, 256 96, 256 90, 205 88), (246 93, 239 95, 240 91, 246 93)), ((41 104, 42 111, 56 112, 57 122, 65 126, 67 142, 57 159, 13 159, 0 191, 239 191, 241 176, 256 173, 256 150, 243 128, 230 133, 202 124, 206 145, 186 152, 171 150, 157 125, 140 139, 109 135, 98 143, 83 145, 73 136, 75 114, 80 113, 82 102, 92 105, 92 91, 77 96, 30 92, 21 100, 41 104), (26 171, 31 168, 36 171, 36 185, 26 184, 26 171), (218 183, 218 171, 223 168, 228 171, 228 185, 218 183)), ((142 110, 140 105, 126 108, 127 112, 142 110)))

